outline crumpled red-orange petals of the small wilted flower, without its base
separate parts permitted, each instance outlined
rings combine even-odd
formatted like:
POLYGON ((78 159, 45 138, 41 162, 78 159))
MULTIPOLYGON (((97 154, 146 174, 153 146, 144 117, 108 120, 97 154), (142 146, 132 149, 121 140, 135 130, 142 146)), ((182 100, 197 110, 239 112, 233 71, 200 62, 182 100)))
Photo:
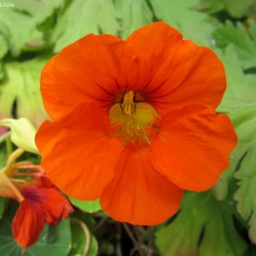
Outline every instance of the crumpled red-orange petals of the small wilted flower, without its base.
POLYGON ((55 188, 44 187, 41 183, 32 183, 20 192, 25 200, 15 214, 12 229, 15 240, 24 247, 38 241, 44 223, 57 224, 60 218, 67 218, 73 207, 55 188))

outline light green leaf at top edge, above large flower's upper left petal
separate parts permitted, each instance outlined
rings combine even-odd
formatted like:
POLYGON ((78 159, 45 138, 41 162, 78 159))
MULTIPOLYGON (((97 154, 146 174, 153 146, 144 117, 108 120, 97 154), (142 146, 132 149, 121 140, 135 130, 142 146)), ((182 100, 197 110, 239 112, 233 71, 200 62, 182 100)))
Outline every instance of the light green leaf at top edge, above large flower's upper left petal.
POLYGON ((64 15, 61 15, 52 41, 56 41, 55 52, 58 52, 91 32, 117 34, 118 30, 113 1, 77 0, 72 1, 64 15))

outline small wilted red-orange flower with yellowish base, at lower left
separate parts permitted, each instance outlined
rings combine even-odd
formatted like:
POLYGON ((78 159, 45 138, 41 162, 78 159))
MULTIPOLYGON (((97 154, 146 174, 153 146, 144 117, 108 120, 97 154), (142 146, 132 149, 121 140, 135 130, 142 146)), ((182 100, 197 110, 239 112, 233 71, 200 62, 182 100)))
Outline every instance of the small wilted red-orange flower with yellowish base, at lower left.
POLYGON ((49 183, 40 166, 39 168, 38 166, 18 166, 14 165, 12 168, 33 169, 38 172, 12 172, 12 174, 15 176, 24 174, 36 179, 32 179, 31 182, 17 178, 11 179, 2 172, 0 195, 20 202, 20 207, 13 219, 12 230, 15 241, 23 246, 24 253, 27 247, 38 241, 44 224, 57 224, 61 218, 67 218, 68 214, 73 212, 73 207, 55 186, 49 183))

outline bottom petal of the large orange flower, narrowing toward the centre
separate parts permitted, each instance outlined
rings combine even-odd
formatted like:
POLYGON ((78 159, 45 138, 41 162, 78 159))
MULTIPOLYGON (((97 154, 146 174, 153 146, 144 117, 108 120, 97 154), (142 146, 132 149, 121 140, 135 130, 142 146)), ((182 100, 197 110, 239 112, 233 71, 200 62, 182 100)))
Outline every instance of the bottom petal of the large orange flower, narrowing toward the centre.
POLYGON ((154 169, 150 148, 126 148, 102 192, 101 205, 116 220, 154 225, 177 212, 182 196, 182 189, 154 169))

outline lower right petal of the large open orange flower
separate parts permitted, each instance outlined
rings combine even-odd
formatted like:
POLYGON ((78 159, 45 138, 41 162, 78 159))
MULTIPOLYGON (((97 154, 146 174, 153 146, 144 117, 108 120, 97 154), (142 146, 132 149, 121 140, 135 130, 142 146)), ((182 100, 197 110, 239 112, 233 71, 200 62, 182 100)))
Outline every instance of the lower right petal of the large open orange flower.
POLYGON ((159 131, 152 140, 154 167, 192 191, 210 189, 217 182, 237 140, 229 117, 202 105, 166 114, 159 131))

